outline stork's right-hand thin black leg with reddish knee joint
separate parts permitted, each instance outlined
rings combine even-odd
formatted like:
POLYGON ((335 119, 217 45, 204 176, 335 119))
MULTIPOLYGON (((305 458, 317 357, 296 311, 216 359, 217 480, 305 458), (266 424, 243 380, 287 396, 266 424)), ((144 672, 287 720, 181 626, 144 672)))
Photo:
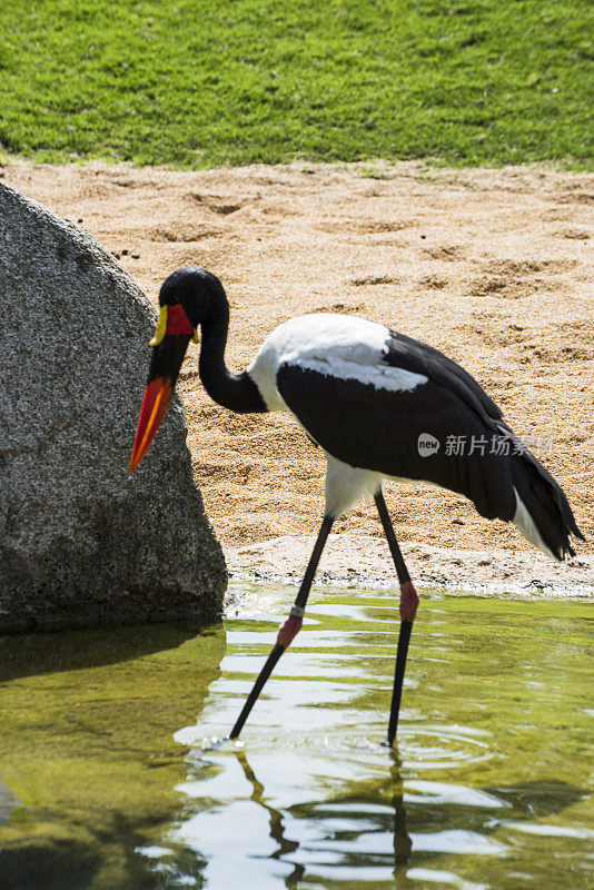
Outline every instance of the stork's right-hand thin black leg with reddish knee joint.
POLYGON ((398 581, 400 582, 400 633, 398 634, 398 651, 396 653, 396 670, 394 672, 394 689, 392 691, 392 705, 389 709, 388 735, 386 742, 392 746, 396 738, 396 730, 398 729, 398 714, 400 711, 400 699, 403 695, 404 672, 406 669, 406 655, 408 653, 408 643, 410 641, 410 632, 413 630, 413 622, 415 620, 418 594, 413 586, 410 575, 405 565, 398 541, 394 533, 392 520, 389 518, 388 508, 384 501, 382 488, 375 495, 375 503, 384 533, 386 535, 392 558, 396 566, 398 581))

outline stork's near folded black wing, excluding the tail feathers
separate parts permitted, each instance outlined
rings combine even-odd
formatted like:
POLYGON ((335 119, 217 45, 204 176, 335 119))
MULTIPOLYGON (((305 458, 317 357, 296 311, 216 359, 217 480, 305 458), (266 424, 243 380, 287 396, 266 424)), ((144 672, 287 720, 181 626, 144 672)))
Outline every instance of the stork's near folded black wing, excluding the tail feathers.
MULTIPOLYGON (((389 364, 395 364, 393 352, 390 357, 389 364)), ((429 376, 432 362, 429 356, 422 367, 413 356, 406 369, 429 376)), ((448 372, 446 364, 435 376, 449 383, 448 372)), ((515 512, 515 497, 508 461, 496 454, 485 459, 478 451, 472 455, 445 454, 451 435, 465 436, 467 443, 473 436, 475 442, 488 439, 488 451, 494 432, 474 387, 464 377, 456 379, 459 383, 448 387, 429 379, 412 392, 393 392, 291 363, 283 364, 277 372, 277 387, 288 407, 311 438, 333 456, 387 476, 435 483, 468 497, 487 518, 509 520, 515 512), (458 395, 458 389, 465 397, 458 395), (439 442, 437 453, 419 454, 418 437, 423 433, 439 442)), ((482 393, 477 384, 474 386, 482 393)), ((491 399, 487 403, 493 404, 491 399)))

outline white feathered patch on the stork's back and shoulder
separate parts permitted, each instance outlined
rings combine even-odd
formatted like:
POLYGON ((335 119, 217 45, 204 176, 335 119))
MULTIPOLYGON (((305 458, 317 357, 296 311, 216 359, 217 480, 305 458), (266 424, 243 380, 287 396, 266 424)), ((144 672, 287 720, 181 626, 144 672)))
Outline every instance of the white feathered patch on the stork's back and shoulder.
POLYGON ((269 411, 287 411, 276 387, 281 364, 357 380, 390 392, 427 383, 424 374, 383 364, 390 333, 384 325, 345 315, 304 315, 276 328, 248 367, 269 411))

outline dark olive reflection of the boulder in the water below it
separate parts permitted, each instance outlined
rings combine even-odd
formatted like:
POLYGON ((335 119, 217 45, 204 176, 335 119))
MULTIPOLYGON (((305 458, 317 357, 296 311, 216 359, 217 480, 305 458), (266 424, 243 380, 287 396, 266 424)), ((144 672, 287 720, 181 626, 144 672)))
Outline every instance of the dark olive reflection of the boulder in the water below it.
POLYGON ((135 850, 179 805, 171 731, 202 706, 224 650, 220 625, 0 637, 2 890, 162 886, 135 850))

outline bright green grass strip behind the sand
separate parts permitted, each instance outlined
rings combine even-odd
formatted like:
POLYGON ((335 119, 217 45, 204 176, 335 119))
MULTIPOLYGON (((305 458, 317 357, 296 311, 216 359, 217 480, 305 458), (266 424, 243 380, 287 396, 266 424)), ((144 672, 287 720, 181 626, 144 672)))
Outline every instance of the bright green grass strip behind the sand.
POLYGON ((175 167, 430 157, 586 168, 592 10, 2 0, 0 146, 175 167))

